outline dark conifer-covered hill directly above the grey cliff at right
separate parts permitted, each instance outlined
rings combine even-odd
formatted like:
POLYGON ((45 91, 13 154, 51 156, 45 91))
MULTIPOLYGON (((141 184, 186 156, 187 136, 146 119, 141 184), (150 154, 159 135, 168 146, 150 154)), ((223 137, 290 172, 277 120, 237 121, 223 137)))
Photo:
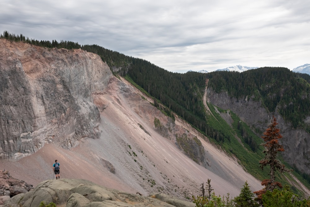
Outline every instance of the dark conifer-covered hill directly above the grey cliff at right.
POLYGON ((294 73, 287 68, 265 67, 237 72, 208 73, 210 86, 216 92, 228 91, 232 97, 250 96, 261 100, 269 112, 279 113, 296 127, 309 126, 303 120, 310 114, 308 74, 294 73))

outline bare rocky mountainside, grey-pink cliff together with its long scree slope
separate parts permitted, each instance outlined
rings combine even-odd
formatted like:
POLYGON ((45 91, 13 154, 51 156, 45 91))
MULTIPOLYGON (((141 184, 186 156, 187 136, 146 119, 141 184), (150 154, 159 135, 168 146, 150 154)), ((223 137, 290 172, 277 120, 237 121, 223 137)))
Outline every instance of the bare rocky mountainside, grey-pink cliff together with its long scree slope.
MULTIPOLYGON (((34 87, 37 86, 37 81, 40 81, 40 86, 44 89, 51 87, 48 84, 54 81, 63 80, 52 85, 51 89, 55 91, 52 100, 43 95, 44 102, 33 102, 30 108, 24 108, 23 104, 16 105, 14 102, 7 101, 7 104, 12 104, 20 109, 14 110, 14 112, 24 113, 25 111, 29 114, 35 114, 38 110, 42 112, 54 111, 55 115, 47 113, 46 115, 35 116, 35 118, 42 120, 42 117, 55 116, 52 118, 54 120, 52 123, 57 126, 51 127, 51 130, 42 130, 39 127, 45 129, 46 126, 29 125, 27 130, 32 135, 36 134, 33 132, 40 131, 40 137, 31 137, 32 139, 28 140, 26 139, 27 136, 20 136, 26 133, 24 131, 26 129, 14 131, 8 128, 11 132, 18 134, 16 137, 20 139, 21 143, 28 141, 28 145, 24 145, 21 150, 14 145, 19 142, 18 139, 14 143, 10 141, 10 136, 1 137, 1 141, 3 141, 0 149, 0 154, 3 156, 1 166, 8 170, 13 177, 25 180, 33 185, 43 180, 52 179, 51 165, 57 159, 60 162, 61 178, 86 178, 106 187, 126 190, 127 192, 136 191, 144 195, 160 191, 183 199, 190 198, 191 195, 198 195, 199 184, 206 182, 208 178, 212 180, 215 193, 221 195, 226 195, 229 192, 231 196, 237 196, 246 180, 253 190, 261 188, 260 181, 245 172, 235 158, 219 150, 183 119, 175 117, 176 121, 174 122, 170 117, 164 115, 153 106, 154 100, 151 97, 143 94, 122 77, 118 79, 112 76, 111 73, 108 73, 109 70, 100 71, 100 76, 96 78, 106 80, 102 81, 103 85, 91 86, 87 91, 84 89, 78 93, 73 86, 81 87, 86 83, 81 82, 76 85, 77 83, 74 81, 67 82, 65 78, 70 77, 68 71, 71 68, 60 65, 59 68, 48 69, 57 65, 53 61, 59 57, 62 57, 64 63, 74 63, 75 58, 78 57, 81 66, 74 66, 73 69, 75 71, 81 70, 78 73, 81 76, 77 74, 73 77, 82 81, 84 72, 88 71, 87 67, 84 67, 86 63, 98 64, 92 69, 95 74, 87 74, 88 77, 95 77, 100 69, 106 68, 99 56, 81 50, 50 50, 3 39, 0 39, 0 43, 3 46, 0 52, 10 54, 1 55, 3 60, 0 67, 1 73, 14 70, 15 77, 24 78, 17 79, 15 87, 20 88, 20 84, 28 82, 29 87, 33 89, 29 91, 28 95, 21 96, 22 101, 18 103, 26 102, 29 96, 35 97, 35 99, 39 97, 39 100, 42 100, 43 94, 38 96, 41 88, 34 87), (29 56, 29 52, 31 52, 31 56, 29 56), (8 56, 10 59, 4 59, 8 56), (30 60, 32 64, 29 64, 30 60), (16 62, 19 63, 18 70, 16 70, 16 62), (40 71, 45 74, 39 73, 40 71), (63 75, 64 77, 62 77, 63 75), (49 77, 47 82, 44 81, 44 77, 49 77), (32 85, 34 83, 35 85, 32 85), (57 90, 67 90, 66 99, 63 99, 63 96, 55 98, 60 94, 57 90), (58 105, 52 104, 54 99, 60 100, 58 105), (70 124, 74 124, 80 122, 79 118, 82 118, 74 117, 70 113, 72 105, 69 103, 73 102, 82 103, 79 108, 82 110, 81 112, 87 113, 81 122, 92 123, 92 130, 96 136, 84 133, 79 139, 72 139, 72 135, 76 132, 79 133, 79 130, 71 133, 71 128, 68 128, 70 133, 58 135, 59 131, 63 132, 68 127, 65 124, 60 125, 62 122, 58 120, 68 120, 70 124), (46 109, 44 109, 44 104, 46 109), (66 104, 66 110, 59 111, 57 107, 63 104, 66 104), (96 106, 95 108, 93 104, 96 106), (88 113, 89 110, 92 113, 88 113), (93 117, 98 117, 98 119, 93 117), (160 121, 159 126, 162 128, 155 126, 155 118, 160 121), (169 136, 161 135, 166 133, 169 136), (54 137, 51 134, 54 134, 54 137), (182 142, 176 145, 179 138, 182 138, 181 141, 185 144, 201 143, 199 145, 203 146, 203 152, 206 155, 206 167, 198 165, 186 155, 186 148, 184 147, 186 145, 182 145, 182 142), (31 142, 32 140, 33 142, 31 142), (191 140, 194 142, 190 142, 191 140), (9 144, 11 151, 5 151, 9 144), (32 149, 36 146, 38 146, 36 151, 29 151, 29 148, 32 149), (5 156, 7 154, 10 156, 5 156), (29 162, 32 163, 32 169, 26 167, 29 162)), ((71 80, 71 78, 68 79, 71 80)), ((7 82, 2 81, 2 83, 7 82)), ((91 81, 91 83, 97 84, 95 81, 91 81)), ((2 86, 4 89, 12 91, 11 85, 2 86)), ((14 95, 20 95, 22 92, 15 91, 14 95)), ((2 104, 2 107, 5 108, 5 105, 2 104)), ((11 113, 12 111, 6 112, 7 115, 11 113)), ((18 113, 11 117, 15 117, 17 123, 20 120, 18 113)), ((23 121, 28 123, 30 118, 32 117, 23 117, 23 121)), ((84 130, 87 132, 88 129, 85 127, 84 130)), ((7 134, 7 132, 3 134, 7 134)), ((30 133, 27 132, 26 134, 30 133)), ((199 145, 196 145, 195 148, 199 149, 199 145)), ((195 151, 192 152, 195 154, 195 151)))

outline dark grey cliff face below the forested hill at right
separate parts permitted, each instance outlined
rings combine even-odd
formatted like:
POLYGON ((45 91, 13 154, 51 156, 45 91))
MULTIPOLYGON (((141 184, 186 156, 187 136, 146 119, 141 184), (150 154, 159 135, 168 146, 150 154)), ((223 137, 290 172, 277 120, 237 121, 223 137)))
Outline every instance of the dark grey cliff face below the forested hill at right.
MULTIPOLYGON (((240 119, 246 122, 250 127, 262 131, 259 136, 268 128, 271 123, 272 114, 258 101, 253 101, 250 97, 243 99, 231 98, 227 93, 215 93, 214 90, 207 90, 208 102, 223 109, 230 109, 236 113, 240 119)), ((291 166, 297 167, 301 172, 310 174, 310 147, 307 140, 310 140, 310 134, 303 129, 294 129, 290 123, 283 120, 280 114, 274 115, 277 118, 280 134, 283 138, 280 140, 285 151, 281 152, 285 161, 291 166)))

